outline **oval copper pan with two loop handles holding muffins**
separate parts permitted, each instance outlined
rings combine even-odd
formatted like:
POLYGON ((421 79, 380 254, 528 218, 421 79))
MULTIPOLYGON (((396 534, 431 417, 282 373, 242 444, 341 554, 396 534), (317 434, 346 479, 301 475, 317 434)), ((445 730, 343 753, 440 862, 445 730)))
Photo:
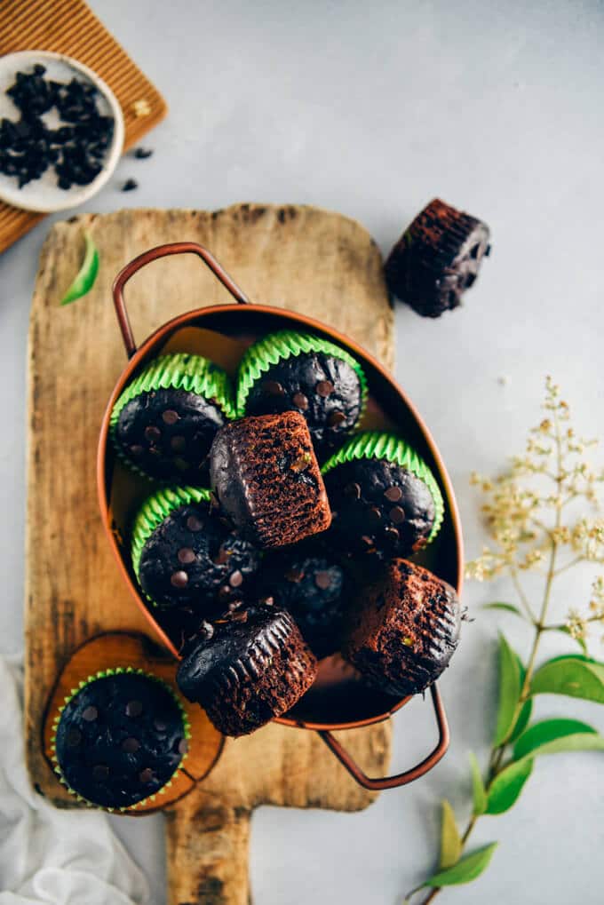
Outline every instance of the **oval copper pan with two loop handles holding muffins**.
MULTIPOLYGON (((436 443, 432 439, 420 414, 418 414, 417 409, 375 357, 369 355, 353 339, 344 336, 319 320, 285 309, 249 303, 244 292, 222 270, 213 256, 196 243, 161 245, 139 255, 118 275, 113 286, 113 300, 129 362, 110 396, 101 425, 97 458, 97 483, 101 516, 110 546, 116 556, 124 581, 129 586, 130 593, 145 614, 154 633, 158 635, 159 639, 175 657, 178 656, 175 639, 170 637, 169 631, 165 627, 158 624, 154 614, 149 611, 148 606, 139 594, 139 588, 129 564, 128 548, 124 545, 121 536, 123 532, 120 532, 116 526, 112 511, 112 503, 115 505, 116 497, 112 498, 111 493, 113 477, 116 471, 119 470, 119 466, 116 467, 114 454, 110 448, 110 443, 108 443, 108 434, 111 410, 129 380, 139 372, 141 367, 147 364, 150 358, 156 357, 170 340, 175 338, 174 341, 177 343, 179 331, 185 328, 194 327, 201 328, 204 331, 213 331, 213 334, 216 335, 216 341, 221 337, 228 337, 236 340, 244 339, 247 343, 276 329, 310 330, 312 333, 329 338, 340 346, 348 348, 353 356, 359 358, 368 376, 368 412, 372 423, 376 426, 395 428, 404 435, 407 441, 415 446, 417 452, 427 459, 436 474, 446 500, 446 518, 438 538, 427 548, 421 561, 436 572, 437 575, 454 585, 457 591, 461 593, 463 582, 463 540, 451 481, 446 473, 440 453, 436 448, 436 443), (123 297, 124 286, 134 273, 149 262, 166 255, 180 253, 197 254, 210 270, 215 273, 216 278, 231 292, 236 303, 213 305, 181 314, 157 329, 137 348, 130 329, 123 297)), ((212 334, 205 335, 212 336, 212 334)), ((211 357, 211 352, 209 355, 211 357)), ((379 691, 369 691, 359 681, 359 677, 350 666, 341 660, 340 656, 326 658, 321 661, 319 676, 312 689, 306 693, 293 710, 283 717, 277 718, 276 721, 283 723, 285 726, 318 730, 321 738, 323 738, 333 753, 339 757, 343 766, 349 770, 350 774, 354 776, 360 785, 370 789, 403 786, 417 779, 418 776, 423 776, 429 769, 434 767, 440 758, 443 757, 448 747, 449 734, 446 714, 436 685, 433 685, 430 691, 438 729, 436 748, 416 767, 397 776, 379 778, 365 776, 360 767, 351 760, 348 753, 341 747, 340 742, 331 735, 331 730, 356 729, 387 719, 407 703, 409 698, 397 700, 379 691)))

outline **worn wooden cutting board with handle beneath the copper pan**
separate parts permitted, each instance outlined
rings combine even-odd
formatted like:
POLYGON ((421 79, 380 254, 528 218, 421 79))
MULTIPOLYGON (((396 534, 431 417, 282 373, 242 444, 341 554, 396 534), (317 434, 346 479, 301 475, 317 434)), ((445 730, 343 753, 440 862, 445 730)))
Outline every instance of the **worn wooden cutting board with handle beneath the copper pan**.
MULTIPOLYGON (((125 364, 110 286, 139 252, 179 240, 206 245, 252 300, 319 318, 392 365, 393 317, 379 251, 360 224, 339 214, 235 205, 212 213, 82 214, 53 226, 35 284, 28 358, 25 726, 32 781, 60 806, 75 803, 41 745, 54 681, 93 635, 149 631, 121 584, 96 499, 101 416, 125 364), (83 229, 99 248, 99 276, 89 295, 60 308, 81 262, 83 229)), ((197 259, 156 262, 129 283, 135 337, 182 311, 228 299, 197 259)), ((341 735, 369 775, 386 772, 388 723, 341 735)), ((228 740, 210 775, 168 812, 169 901, 247 905, 254 807, 355 811, 373 797, 311 731, 272 724, 228 740)))

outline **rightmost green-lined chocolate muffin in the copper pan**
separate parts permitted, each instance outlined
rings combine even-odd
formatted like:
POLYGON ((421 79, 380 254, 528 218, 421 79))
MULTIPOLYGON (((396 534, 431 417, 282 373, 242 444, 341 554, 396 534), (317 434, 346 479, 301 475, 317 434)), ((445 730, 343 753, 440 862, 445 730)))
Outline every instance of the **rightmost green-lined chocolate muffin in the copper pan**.
POLYGON ((331 542, 346 556, 407 556, 436 537, 444 503, 433 473, 390 433, 360 433, 322 468, 331 542))

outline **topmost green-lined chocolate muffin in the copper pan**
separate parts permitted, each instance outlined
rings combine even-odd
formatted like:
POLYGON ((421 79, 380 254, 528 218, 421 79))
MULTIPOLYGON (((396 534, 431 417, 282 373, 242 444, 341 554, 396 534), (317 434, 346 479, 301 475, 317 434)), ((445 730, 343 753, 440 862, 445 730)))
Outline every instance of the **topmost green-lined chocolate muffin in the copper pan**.
POLYGON ((321 452, 359 424, 366 400, 359 362, 312 334, 272 333, 247 349, 239 368, 238 414, 300 412, 321 452))

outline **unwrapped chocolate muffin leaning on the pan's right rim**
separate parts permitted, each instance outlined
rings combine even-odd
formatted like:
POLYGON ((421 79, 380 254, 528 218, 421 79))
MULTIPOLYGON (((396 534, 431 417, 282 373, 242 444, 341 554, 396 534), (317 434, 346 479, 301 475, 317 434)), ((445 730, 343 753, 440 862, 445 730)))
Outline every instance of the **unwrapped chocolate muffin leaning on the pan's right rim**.
POLYGON ((394 559, 361 587, 346 616, 342 655, 387 694, 432 684, 459 643, 455 590, 427 569, 394 559))

